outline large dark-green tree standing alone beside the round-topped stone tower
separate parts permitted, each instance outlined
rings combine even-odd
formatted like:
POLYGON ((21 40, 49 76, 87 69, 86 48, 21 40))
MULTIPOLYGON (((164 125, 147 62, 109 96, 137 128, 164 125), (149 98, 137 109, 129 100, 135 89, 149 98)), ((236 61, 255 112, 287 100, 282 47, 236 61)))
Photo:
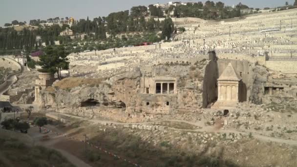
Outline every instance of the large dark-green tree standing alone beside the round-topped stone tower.
POLYGON ((61 70, 69 69, 69 62, 67 59, 68 52, 65 51, 62 45, 47 46, 44 49, 44 54, 39 57, 39 65, 42 69, 40 72, 57 73, 58 78, 61 79, 61 70))

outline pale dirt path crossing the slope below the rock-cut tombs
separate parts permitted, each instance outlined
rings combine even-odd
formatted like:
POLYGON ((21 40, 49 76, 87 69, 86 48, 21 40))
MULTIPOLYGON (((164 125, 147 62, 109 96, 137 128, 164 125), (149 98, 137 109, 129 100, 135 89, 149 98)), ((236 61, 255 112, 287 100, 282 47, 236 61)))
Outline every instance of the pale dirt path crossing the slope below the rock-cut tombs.
MULTIPOLYGON (((69 115, 69 114, 64 114, 64 113, 59 113, 61 115, 67 116, 67 117, 71 117, 71 118, 76 118, 76 119, 80 119, 80 120, 85 120, 88 122, 91 122, 92 124, 113 124, 113 125, 131 125, 133 123, 119 123, 119 122, 114 122, 114 121, 105 121, 105 120, 97 120, 97 119, 87 119, 87 118, 82 118, 79 116, 74 116, 74 115, 69 115)), ((146 123, 135 123, 137 125, 148 125, 148 124, 152 124, 152 123, 159 123, 162 121, 175 121, 175 122, 181 122, 181 123, 187 123, 187 124, 191 124, 191 125, 196 125, 196 126, 200 126, 201 124, 199 123, 195 123, 195 122, 189 122, 189 121, 183 121, 183 120, 160 120, 160 121, 153 121, 153 122, 146 122, 146 123)), ((177 128, 172 128, 169 127, 169 129, 172 130, 180 130, 180 131, 193 131, 193 132, 220 132, 220 133, 234 133, 234 134, 243 134, 243 135, 249 135, 248 132, 241 132, 241 131, 237 131, 235 129, 215 129, 213 127, 202 127, 201 129, 177 129, 177 128)), ((258 140, 261 141, 265 141, 265 142, 276 142, 276 143, 282 143, 282 144, 287 144, 287 145, 294 145, 297 146, 297 141, 294 140, 286 140, 286 139, 279 139, 279 138, 274 138, 274 137, 269 137, 269 136, 263 136, 263 135, 259 135, 259 134, 255 134, 252 133, 252 136, 255 137, 258 140)))

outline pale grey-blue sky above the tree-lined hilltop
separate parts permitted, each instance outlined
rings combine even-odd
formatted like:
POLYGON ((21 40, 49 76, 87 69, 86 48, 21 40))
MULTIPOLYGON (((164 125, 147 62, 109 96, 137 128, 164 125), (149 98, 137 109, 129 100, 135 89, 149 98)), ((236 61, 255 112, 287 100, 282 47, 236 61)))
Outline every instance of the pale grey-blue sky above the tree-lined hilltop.
MULTIPOLYGON (((73 17, 75 20, 107 16, 111 12, 129 10, 132 6, 168 3, 169 1, 198 2, 206 0, 0 0, 0 26, 13 20, 46 20, 55 17, 73 17)), ((213 0, 227 5, 239 2, 254 8, 293 4, 294 0, 213 0)))

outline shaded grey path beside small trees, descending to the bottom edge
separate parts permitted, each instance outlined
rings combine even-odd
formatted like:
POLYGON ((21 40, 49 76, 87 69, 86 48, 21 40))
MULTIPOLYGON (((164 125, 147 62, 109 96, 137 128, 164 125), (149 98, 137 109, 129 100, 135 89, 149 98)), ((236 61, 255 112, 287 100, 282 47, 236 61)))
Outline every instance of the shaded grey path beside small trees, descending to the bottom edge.
MULTIPOLYGON (((57 130, 54 127, 50 126, 50 125, 46 125, 46 128, 48 129, 52 129, 52 130, 57 130)), ((58 131, 59 132, 59 131, 58 131)), ((31 127, 28 130, 28 135, 31 136, 34 139, 34 142, 36 145, 40 145, 40 146, 45 146, 47 148, 52 148, 55 149, 57 151, 59 151, 60 153, 63 154, 64 157, 67 158, 67 160, 72 163, 73 165, 75 165, 76 167, 91 167, 90 165, 86 164, 84 161, 82 161, 81 159, 77 158, 76 156, 70 154, 69 152, 63 150, 63 149, 59 149, 59 148, 55 148, 54 145, 60 141, 63 140, 67 140, 66 137, 58 135, 54 132, 48 132, 48 133, 40 133, 39 132, 39 128, 38 127, 31 127), (43 139, 43 136, 48 136, 49 140, 47 141, 40 141, 41 139, 43 139)))

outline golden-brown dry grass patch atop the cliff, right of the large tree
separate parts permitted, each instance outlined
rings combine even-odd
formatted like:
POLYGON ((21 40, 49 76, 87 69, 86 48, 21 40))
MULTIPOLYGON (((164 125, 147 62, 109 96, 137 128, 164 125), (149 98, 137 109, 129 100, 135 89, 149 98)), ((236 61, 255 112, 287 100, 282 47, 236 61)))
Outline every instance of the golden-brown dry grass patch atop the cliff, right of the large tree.
MULTIPOLYGON (((105 78, 65 78, 61 80, 59 83, 55 84, 55 86, 59 87, 60 89, 71 89, 77 86, 81 86, 83 84, 89 85, 98 85, 105 81, 105 78)), ((53 87, 49 87, 46 89, 47 91, 54 91, 53 87)))

